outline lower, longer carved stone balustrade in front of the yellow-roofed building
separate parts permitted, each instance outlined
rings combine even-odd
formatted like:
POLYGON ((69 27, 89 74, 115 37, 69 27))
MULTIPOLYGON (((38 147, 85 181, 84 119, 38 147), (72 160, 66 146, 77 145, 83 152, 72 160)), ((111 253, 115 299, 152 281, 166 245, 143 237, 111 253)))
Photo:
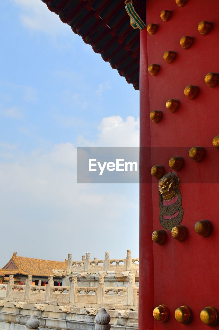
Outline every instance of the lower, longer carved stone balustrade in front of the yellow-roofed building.
MULTIPOLYGON (((109 274, 112 275, 112 274, 109 274)), ((135 274, 128 274, 127 286, 106 286, 104 279, 106 274, 99 274, 99 281, 96 286, 78 286, 77 275, 72 275, 70 286, 54 286, 50 277, 50 284, 47 286, 15 285, 11 281, 7 285, 6 296, 0 290, 0 300, 5 298, 11 302, 29 302, 35 304, 49 303, 57 305, 89 304, 92 305, 122 305, 138 306, 138 287, 135 285, 135 274)))

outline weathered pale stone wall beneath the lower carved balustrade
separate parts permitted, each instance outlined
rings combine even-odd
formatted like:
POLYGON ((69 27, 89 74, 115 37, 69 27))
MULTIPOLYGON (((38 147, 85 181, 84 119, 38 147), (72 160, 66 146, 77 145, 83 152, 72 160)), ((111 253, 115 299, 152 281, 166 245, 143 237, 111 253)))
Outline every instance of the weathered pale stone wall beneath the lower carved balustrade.
MULTIPOLYGON (((31 315, 40 321, 39 330, 95 330, 95 316, 100 307, 51 306, 28 303, 0 302, 0 330, 26 330, 25 324, 31 315)), ((138 312, 115 307, 106 308, 111 316, 111 329, 138 329, 138 312)))

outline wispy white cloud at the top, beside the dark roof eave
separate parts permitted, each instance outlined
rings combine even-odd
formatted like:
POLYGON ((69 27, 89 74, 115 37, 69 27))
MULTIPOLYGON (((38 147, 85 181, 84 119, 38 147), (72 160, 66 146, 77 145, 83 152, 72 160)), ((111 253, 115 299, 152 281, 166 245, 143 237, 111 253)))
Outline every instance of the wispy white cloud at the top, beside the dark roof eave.
POLYGON ((21 9, 20 19, 30 30, 42 31, 47 34, 58 34, 70 29, 59 17, 48 10, 40 0, 12 0, 21 9))

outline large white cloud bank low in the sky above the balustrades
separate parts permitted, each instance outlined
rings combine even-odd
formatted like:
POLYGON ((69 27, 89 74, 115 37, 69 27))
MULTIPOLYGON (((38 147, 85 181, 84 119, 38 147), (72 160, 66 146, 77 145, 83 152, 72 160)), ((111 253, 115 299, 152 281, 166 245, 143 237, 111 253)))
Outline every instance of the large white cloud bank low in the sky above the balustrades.
MULTIPOLYGON (((103 118, 96 146, 109 144, 110 134, 120 137, 118 144, 124 144, 125 137, 137 144, 137 132, 133 117, 103 118)), ((0 156, 8 149, 14 154, 10 161, 0 158, 1 231, 9 232, 11 239, 2 264, 14 250, 60 260, 68 252, 76 259, 86 252, 102 258, 108 249, 112 257, 121 258, 127 248, 138 256, 137 185, 77 184, 76 148, 71 143, 28 155, 16 146, 1 147, 0 156)), ((1 236, 2 245, 7 240, 1 236)))

